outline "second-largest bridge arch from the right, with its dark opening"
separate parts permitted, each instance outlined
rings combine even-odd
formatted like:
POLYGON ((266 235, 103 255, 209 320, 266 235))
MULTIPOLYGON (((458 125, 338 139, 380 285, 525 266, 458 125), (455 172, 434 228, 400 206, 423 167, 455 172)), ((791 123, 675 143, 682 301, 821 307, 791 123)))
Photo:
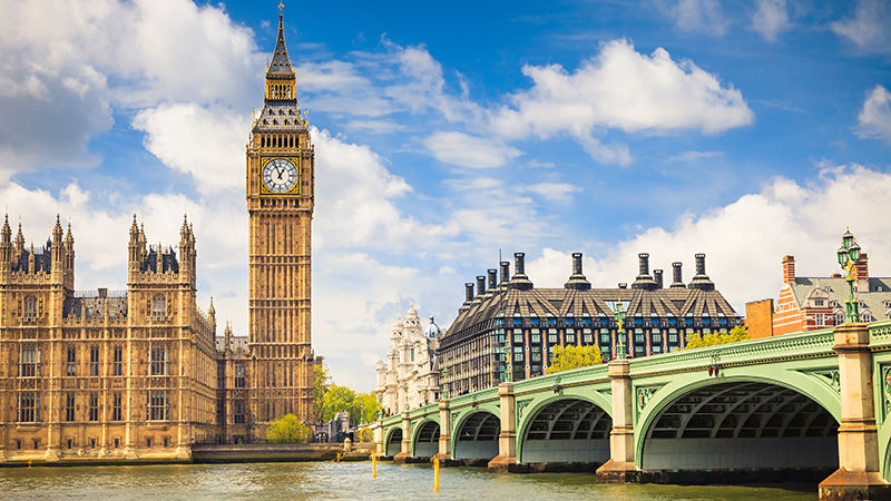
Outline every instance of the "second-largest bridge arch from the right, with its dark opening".
POLYGON ((609 459, 608 406, 587 395, 558 394, 530 407, 517 430, 518 461, 603 464, 609 459))

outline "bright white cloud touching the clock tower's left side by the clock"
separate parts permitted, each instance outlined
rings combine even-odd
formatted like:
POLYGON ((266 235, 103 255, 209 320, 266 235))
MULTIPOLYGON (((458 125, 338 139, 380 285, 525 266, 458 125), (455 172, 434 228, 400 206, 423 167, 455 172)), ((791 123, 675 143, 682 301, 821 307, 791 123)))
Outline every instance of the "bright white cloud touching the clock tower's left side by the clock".
POLYGON ((192 175, 198 191, 244 187, 244 145, 251 118, 194 102, 161 105, 136 114, 143 144, 168 167, 192 175))

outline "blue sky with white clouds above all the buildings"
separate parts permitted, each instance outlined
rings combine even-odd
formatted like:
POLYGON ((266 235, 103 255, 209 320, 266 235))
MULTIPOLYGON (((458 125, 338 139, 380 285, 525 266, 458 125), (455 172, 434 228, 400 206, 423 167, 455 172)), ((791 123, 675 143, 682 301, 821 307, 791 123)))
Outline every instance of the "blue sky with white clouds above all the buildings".
MULTIPOLYGON (((195 226, 198 297, 247 335, 245 143, 277 0, 0 0, 0 202, 40 245, 70 220, 76 288, 126 288, 195 226)), ((734 307, 781 259, 835 272, 845 227, 891 275, 891 4, 796 0, 285 2, 315 145, 313 346, 373 387, 411 304, 527 256, 595 287, 706 253, 734 307)))

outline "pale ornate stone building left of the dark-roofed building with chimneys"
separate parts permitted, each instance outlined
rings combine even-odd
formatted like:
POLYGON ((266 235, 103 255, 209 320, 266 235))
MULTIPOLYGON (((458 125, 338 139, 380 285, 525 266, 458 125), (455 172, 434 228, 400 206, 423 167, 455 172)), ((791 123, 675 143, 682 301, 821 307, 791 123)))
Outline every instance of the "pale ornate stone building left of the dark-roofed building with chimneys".
POLYGON ((414 306, 409 307, 404 321, 396 321, 390 336, 386 363, 379 360, 378 386, 374 393, 386 414, 420 407, 439 401, 440 330, 430 317, 421 327, 414 306))

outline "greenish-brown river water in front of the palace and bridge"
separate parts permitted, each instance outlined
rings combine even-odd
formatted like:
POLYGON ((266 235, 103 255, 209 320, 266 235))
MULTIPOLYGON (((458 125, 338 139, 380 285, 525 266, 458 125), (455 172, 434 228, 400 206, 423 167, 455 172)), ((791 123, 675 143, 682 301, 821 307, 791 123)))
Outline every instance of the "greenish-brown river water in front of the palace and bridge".
POLYGON ((594 474, 491 474, 449 468, 433 494, 428 465, 241 463, 0 469, 2 499, 814 499, 816 485, 606 485, 594 474))

